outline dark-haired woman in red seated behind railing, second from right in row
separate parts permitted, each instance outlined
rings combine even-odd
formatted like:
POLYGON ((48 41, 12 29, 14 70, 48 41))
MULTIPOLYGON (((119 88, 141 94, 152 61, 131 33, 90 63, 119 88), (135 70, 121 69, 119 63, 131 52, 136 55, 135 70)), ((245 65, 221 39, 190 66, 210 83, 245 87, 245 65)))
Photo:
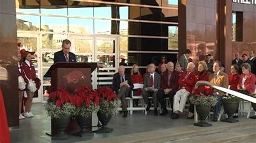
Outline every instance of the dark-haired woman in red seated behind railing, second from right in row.
POLYGON ((237 90, 237 84, 239 83, 240 75, 237 73, 239 67, 232 65, 230 68, 231 74, 228 75, 228 83, 230 84, 231 90, 237 90))

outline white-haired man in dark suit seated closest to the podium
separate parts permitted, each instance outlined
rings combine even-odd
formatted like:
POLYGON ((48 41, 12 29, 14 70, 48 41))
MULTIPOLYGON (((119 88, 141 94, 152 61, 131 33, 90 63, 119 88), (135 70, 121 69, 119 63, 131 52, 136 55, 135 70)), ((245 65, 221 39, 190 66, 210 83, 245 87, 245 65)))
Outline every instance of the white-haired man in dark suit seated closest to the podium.
POLYGON ((129 92, 133 89, 132 78, 129 74, 125 74, 125 67, 120 66, 118 68, 118 73, 114 74, 113 76, 113 91, 116 92, 118 98, 122 102, 122 111, 124 113, 123 118, 127 117, 127 105, 125 97, 129 96, 129 92), (124 84, 123 82, 126 82, 124 84), (122 87, 120 85, 122 84, 122 87))

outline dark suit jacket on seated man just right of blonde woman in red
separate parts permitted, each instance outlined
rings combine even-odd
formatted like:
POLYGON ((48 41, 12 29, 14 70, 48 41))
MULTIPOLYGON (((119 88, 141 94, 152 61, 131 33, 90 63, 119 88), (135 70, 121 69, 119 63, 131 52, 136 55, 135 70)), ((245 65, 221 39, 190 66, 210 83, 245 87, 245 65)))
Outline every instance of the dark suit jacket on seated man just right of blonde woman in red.
MULTIPOLYGON (((144 85, 143 88, 150 87, 150 73, 147 74, 144 78, 144 85)), ((157 72, 154 72, 154 88, 160 90, 161 87, 161 76, 157 72)))

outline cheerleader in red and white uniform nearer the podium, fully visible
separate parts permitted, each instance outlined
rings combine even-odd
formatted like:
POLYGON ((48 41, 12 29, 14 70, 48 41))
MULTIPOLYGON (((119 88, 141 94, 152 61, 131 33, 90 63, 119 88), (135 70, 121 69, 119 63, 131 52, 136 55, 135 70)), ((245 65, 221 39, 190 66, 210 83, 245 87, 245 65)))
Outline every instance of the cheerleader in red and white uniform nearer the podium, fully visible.
MULTIPOLYGON (((33 52, 35 53, 35 52, 33 52)), ((24 55, 21 59, 21 75, 24 78, 26 82, 26 94, 28 95, 28 99, 25 103, 25 117, 33 117, 33 114, 31 112, 32 107, 32 99, 35 94, 36 88, 36 69, 33 66, 33 63, 31 62, 32 54, 28 51, 25 51, 24 55)))

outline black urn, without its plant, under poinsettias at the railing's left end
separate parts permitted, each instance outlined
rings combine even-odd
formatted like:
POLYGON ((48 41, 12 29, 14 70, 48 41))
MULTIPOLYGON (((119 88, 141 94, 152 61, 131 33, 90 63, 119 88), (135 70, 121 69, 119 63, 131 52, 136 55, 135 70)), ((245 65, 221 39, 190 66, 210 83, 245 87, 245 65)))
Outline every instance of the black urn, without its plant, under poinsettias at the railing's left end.
POLYGON ((212 124, 207 123, 205 121, 207 116, 209 116, 211 107, 203 107, 203 106, 196 105, 196 110, 197 110, 198 118, 200 119, 200 121, 198 123, 195 123, 194 125, 200 126, 200 127, 212 126, 212 124))

